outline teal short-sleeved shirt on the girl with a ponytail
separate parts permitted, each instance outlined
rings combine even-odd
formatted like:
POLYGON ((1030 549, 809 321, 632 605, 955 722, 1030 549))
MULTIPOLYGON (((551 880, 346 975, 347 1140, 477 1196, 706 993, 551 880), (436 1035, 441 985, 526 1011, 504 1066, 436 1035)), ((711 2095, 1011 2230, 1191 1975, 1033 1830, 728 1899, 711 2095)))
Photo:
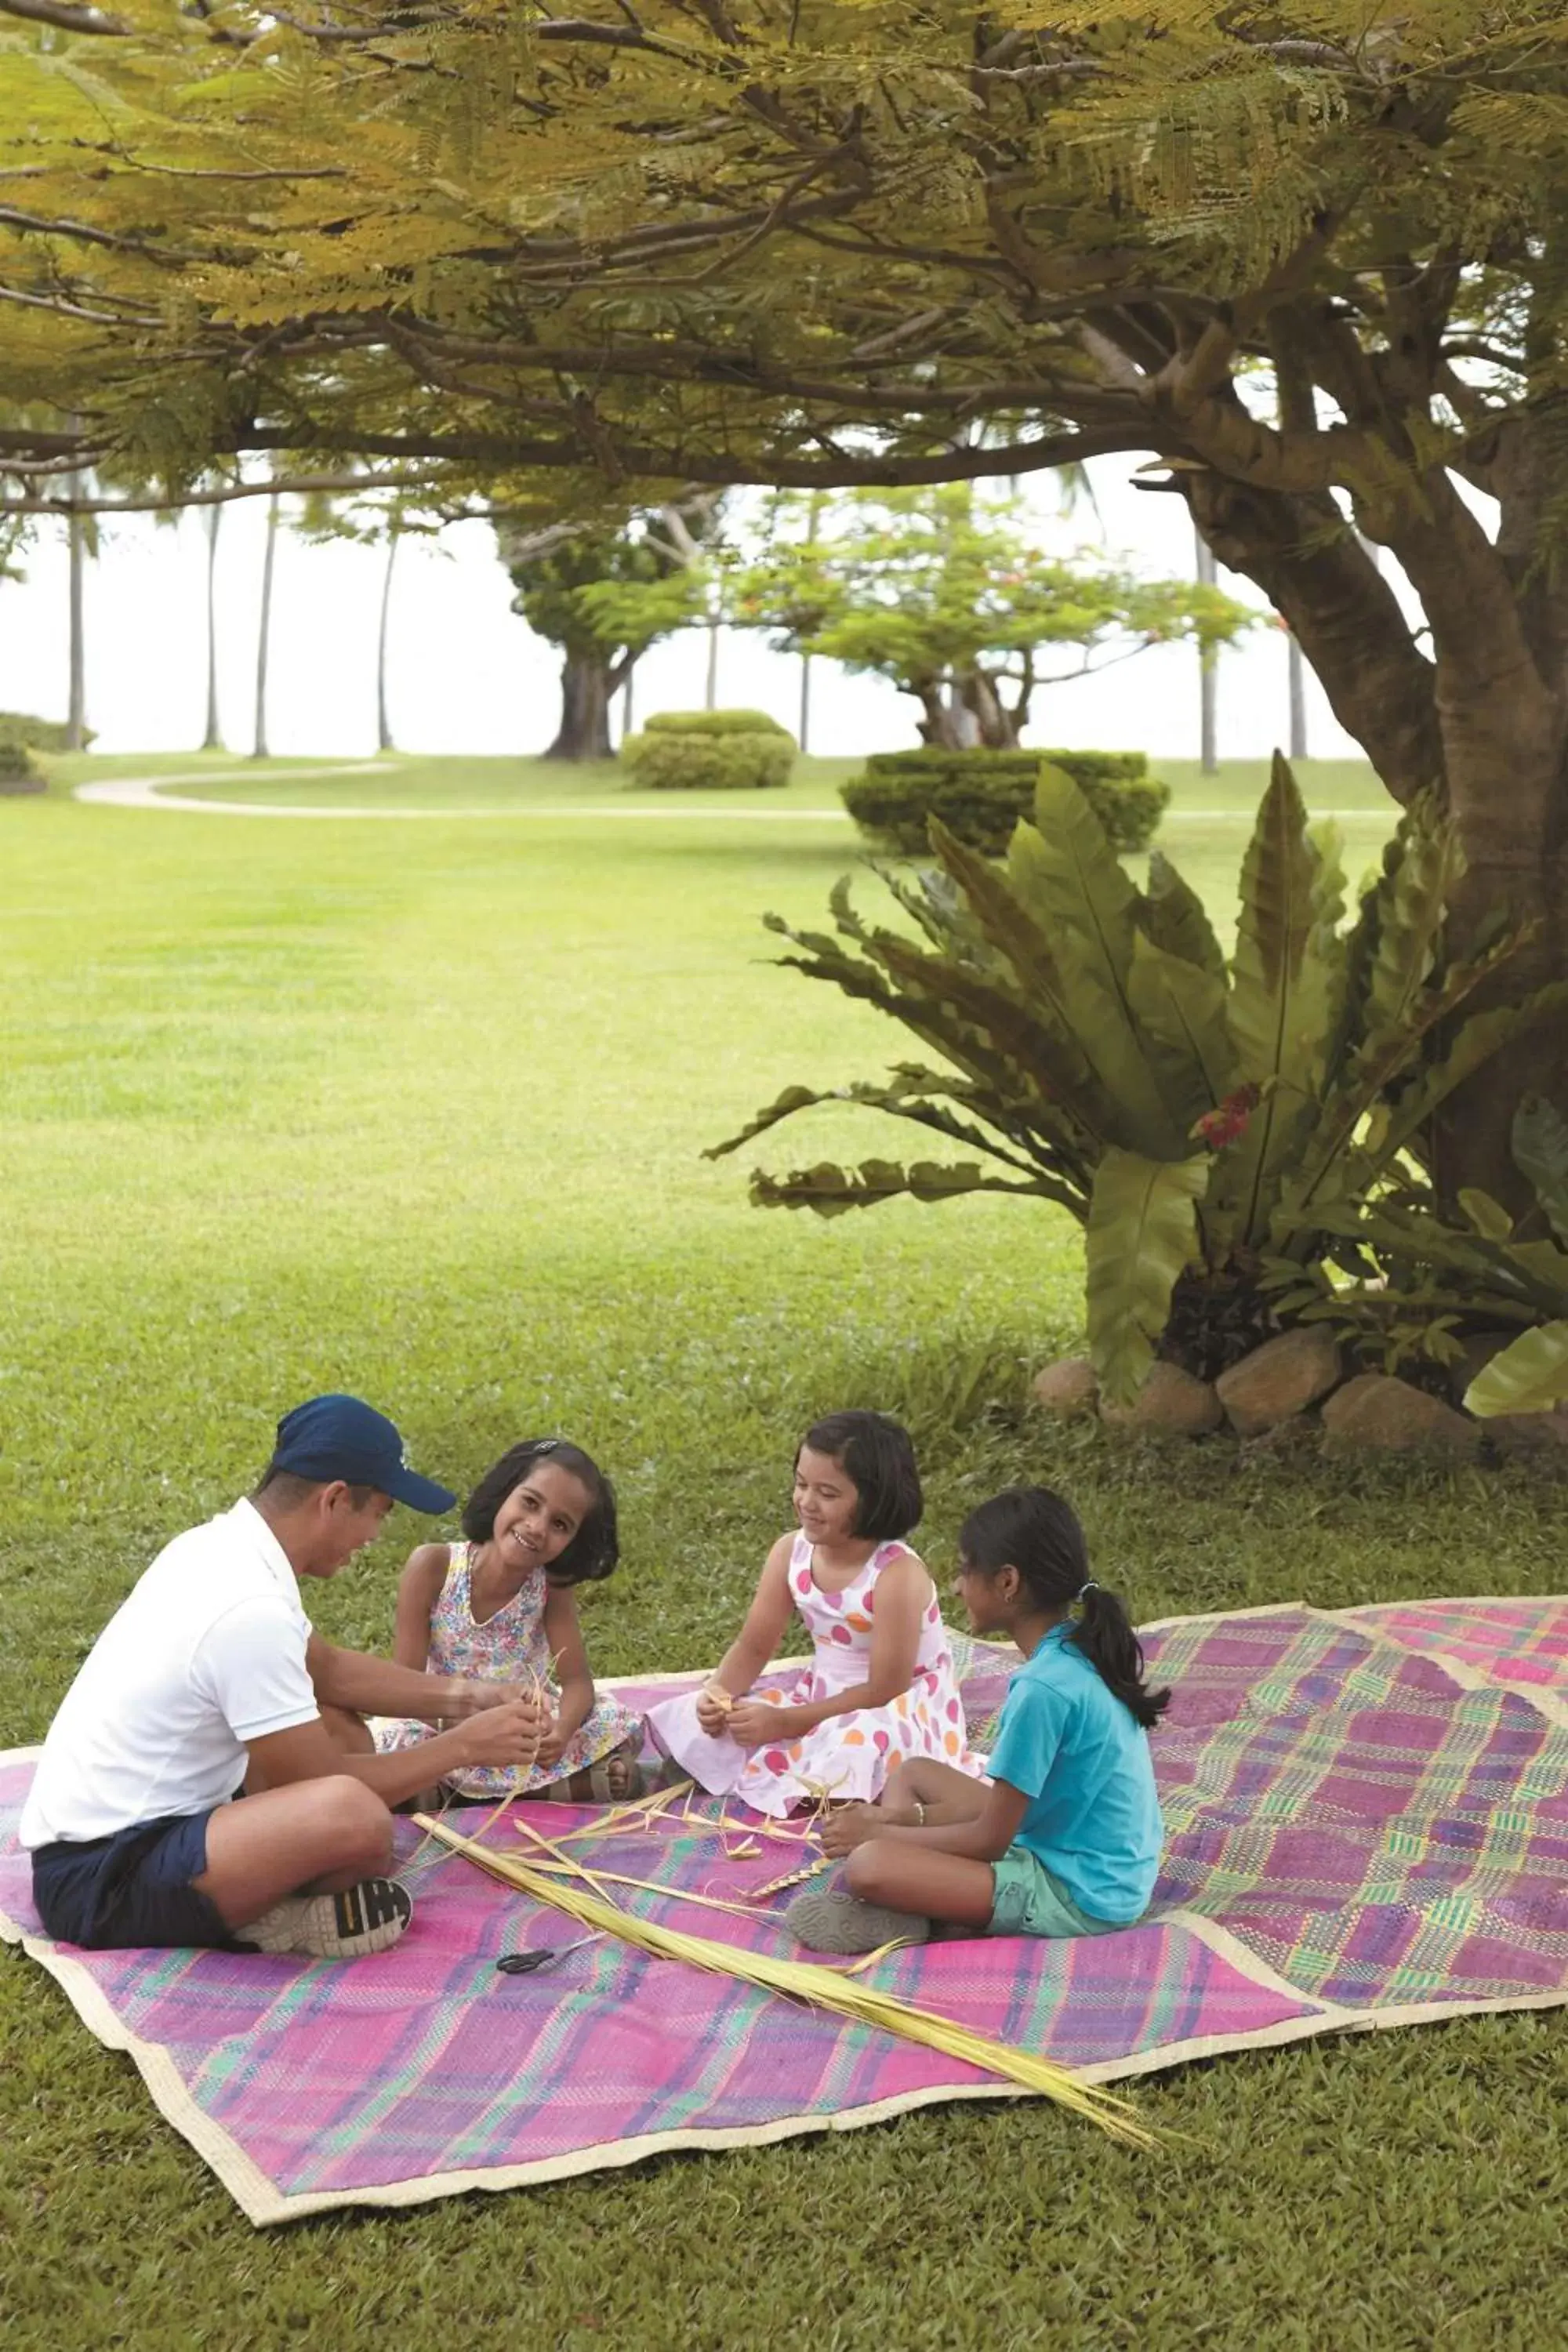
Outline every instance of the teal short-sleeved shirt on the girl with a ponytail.
POLYGON ((1150 1905, 1166 1835, 1150 1736, 1067 1635, 1053 1625, 1013 1675, 987 1771, 1030 1799, 1016 1844, 1091 1919, 1128 1926, 1150 1905))

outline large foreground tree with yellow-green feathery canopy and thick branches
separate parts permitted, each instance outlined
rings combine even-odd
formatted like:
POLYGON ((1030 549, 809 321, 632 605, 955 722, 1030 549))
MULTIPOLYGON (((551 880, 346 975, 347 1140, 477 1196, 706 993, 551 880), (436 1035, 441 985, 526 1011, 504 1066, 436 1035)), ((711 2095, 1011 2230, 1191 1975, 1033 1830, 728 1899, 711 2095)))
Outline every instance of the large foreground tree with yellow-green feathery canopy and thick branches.
POLYGON ((1387 786, 1446 797, 1453 922, 1507 894, 1568 962, 1554 0, 0 16, 24 503, 247 452, 567 508, 1143 454, 1387 786))

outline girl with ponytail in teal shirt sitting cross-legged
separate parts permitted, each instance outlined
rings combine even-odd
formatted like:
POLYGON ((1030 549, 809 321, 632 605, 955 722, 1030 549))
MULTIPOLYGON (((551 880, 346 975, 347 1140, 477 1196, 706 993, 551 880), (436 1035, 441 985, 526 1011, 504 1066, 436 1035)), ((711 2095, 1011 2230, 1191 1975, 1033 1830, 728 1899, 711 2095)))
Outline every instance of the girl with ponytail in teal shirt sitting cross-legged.
POLYGON ((905 1762, 877 1804, 823 1828, 846 1856, 837 1889, 788 1922, 816 1952, 872 1952, 933 1924, 973 1936, 1103 1936, 1143 1917, 1164 1825, 1143 1649, 1114 1592, 1088 1573, 1074 1512, 1048 1486, 1009 1486, 959 1531, 959 1597, 978 1635, 1025 1656, 990 1755, 990 1780, 905 1762), (1077 1618, 1074 1618, 1077 1611, 1077 1618))

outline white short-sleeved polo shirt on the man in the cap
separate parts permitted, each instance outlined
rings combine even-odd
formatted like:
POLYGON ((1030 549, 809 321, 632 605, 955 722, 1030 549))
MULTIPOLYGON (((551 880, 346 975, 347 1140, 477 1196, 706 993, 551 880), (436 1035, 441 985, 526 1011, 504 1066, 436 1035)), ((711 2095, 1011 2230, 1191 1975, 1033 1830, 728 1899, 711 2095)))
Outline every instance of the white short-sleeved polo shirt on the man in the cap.
POLYGON ((223 1804, 249 1740, 320 1715, 308 1639, 299 1581, 254 1503, 176 1536, 66 1691, 21 1844, 110 1837, 223 1804))

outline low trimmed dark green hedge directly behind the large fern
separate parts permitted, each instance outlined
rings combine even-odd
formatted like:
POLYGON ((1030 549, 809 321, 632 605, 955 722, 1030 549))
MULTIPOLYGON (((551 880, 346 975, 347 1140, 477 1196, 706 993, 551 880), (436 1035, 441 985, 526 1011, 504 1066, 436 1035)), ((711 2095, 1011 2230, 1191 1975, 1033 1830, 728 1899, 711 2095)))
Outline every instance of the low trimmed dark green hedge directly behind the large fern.
POLYGON ((1140 750, 879 750, 844 786, 844 807, 884 849, 919 856, 940 816, 966 849, 999 858, 1018 818, 1034 814, 1041 760, 1072 776, 1112 849, 1147 849, 1171 786, 1147 774, 1140 750))

